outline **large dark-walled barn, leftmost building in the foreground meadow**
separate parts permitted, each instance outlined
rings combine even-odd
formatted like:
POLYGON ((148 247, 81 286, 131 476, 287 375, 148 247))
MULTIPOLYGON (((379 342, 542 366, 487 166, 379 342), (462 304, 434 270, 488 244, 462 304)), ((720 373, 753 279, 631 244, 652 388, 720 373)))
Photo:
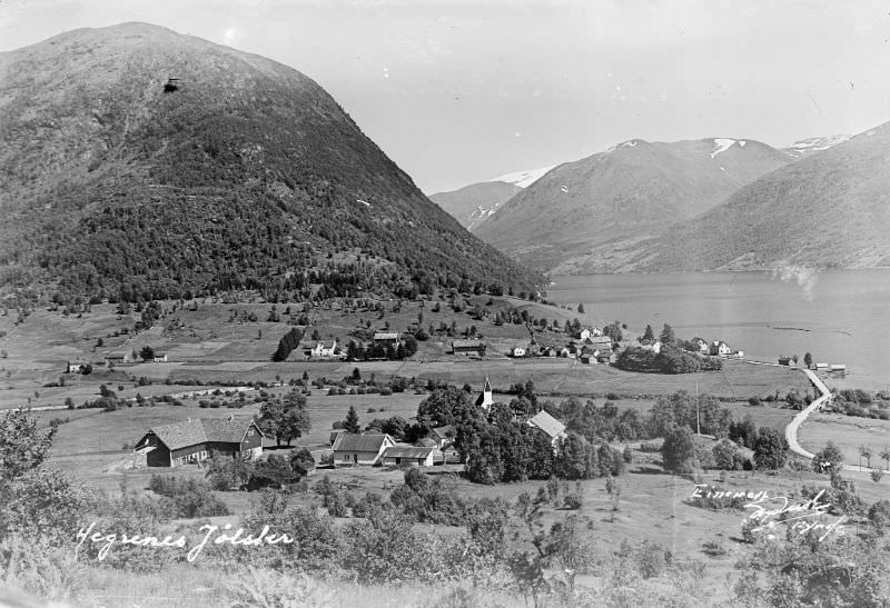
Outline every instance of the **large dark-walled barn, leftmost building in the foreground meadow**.
POLYGON ((207 460, 212 453, 249 456, 263 453, 263 431, 253 420, 189 418, 184 422, 152 427, 134 447, 146 455, 149 467, 177 467, 207 460))

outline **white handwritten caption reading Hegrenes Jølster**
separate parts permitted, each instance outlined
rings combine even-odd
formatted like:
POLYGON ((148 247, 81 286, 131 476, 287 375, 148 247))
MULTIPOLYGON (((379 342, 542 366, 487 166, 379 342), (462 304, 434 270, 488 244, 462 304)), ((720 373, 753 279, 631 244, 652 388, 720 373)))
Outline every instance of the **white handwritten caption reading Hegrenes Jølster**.
MULTIPOLYGON (((99 545, 99 554, 98 559, 102 561, 107 556, 108 552, 111 550, 111 547, 115 545, 131 545, 135 547, 174 547, 179 549, 185 549, 188 546, 188 541, 186 540, 185 536, 174 537, 174 536, 165 536, 160 538, 158 536, 148 536, 148 535, 138 535, 138 534, 127 534, 122 532, 120 535, 117 534, 103 534, 101 531, 93 531, 96 528, 96 521, 90 524, 87 528, 80 528, 77 532, 77 548, 75 549, 75 556, 77 556, 78 551, 80 550, 81 546, 89 540, 91 545, 99 545)), ((201 538, 200 542, 195 545, 191 550, 189 550, 186 559, 188 561, 195 561, 200 552, 204 550, 205 546, 210 542, 212 537, 214 545, 224 545, 229 544, 234 547, 259 547, 261 545, 290 545, 294 542, 294 539, 290 538, 286 534, 274 534, 270 532, 270 528, 268 526, 264 526, 263 530, 257 535, 246 535, 244 528, 238 528, 235 530, 234 534, 226 534, 228 530, 231 530, 231 524, 226 524, 222 526, 222 530, 220 531, 219 526, 214 526, 211 524, 206 524, 201 526, 198 531, 205 532, 204 538, 201 538)))

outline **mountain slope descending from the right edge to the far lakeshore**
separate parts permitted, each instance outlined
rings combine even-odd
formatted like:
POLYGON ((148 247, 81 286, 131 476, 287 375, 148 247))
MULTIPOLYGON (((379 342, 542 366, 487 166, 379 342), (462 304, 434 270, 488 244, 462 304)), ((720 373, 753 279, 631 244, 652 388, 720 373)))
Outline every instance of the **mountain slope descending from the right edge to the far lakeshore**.
POLYGON ((616 269, 890 266, 889 235, 890 122, 761 177, 616 269))

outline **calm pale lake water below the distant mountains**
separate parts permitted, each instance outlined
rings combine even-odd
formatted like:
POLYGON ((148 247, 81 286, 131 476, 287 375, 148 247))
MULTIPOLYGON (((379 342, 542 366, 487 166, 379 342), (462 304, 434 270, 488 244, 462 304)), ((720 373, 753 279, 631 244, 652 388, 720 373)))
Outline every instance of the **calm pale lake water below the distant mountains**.
POLYGON ((890 269, 556 277, 547 299, 583 302, 597 325, 621 320, 632 338, 669 323, 678 338, 724 340, 746 359, 797 355, 802 365, 809 351, 847 365, 829 386, 890 388, 890 269))

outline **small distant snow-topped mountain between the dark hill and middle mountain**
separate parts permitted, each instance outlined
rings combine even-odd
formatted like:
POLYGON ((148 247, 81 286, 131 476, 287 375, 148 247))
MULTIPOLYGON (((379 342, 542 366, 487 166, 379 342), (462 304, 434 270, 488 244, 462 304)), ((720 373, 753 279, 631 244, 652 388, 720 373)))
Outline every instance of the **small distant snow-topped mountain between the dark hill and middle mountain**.
POLYGON ((437 192, 429 198, 472 232, 516 192, 541 179, 553 167, 506 173, 458 190, 437 192))

